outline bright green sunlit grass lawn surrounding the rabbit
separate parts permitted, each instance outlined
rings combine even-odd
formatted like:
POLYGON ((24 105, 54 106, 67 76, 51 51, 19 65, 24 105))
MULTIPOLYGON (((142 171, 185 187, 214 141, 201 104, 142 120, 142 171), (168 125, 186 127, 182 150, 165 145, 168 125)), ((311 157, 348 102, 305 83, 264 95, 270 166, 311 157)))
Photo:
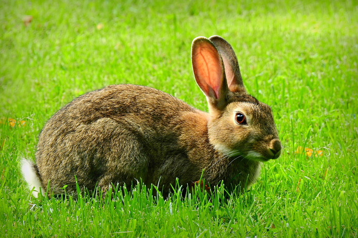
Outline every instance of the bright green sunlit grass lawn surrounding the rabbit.
POLYGON ((0 124, 0 236, 358 236, 357 2, 169 2, 2 1, 0 117, 26 125, 0 124), (42 126, 74 97, 133 83, 207 110, 190 45, 211 35, 232 44, 246 89, 272 106, 284 146, 249 191, 29 195, 19 158, 34 159, 42 126), (299 146, 323 156, 296 154, 299 146))

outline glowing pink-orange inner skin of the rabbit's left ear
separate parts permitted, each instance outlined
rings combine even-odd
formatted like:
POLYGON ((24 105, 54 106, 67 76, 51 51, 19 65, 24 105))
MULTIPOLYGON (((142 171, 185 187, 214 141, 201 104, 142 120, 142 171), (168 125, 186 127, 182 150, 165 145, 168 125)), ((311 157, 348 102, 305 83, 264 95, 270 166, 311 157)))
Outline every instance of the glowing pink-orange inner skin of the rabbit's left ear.
POLYGON ((223 80, 218 51, 209 44, 202 44, 197 47, 194 58, 197 84, 207 96, 218 99, 223 80))

